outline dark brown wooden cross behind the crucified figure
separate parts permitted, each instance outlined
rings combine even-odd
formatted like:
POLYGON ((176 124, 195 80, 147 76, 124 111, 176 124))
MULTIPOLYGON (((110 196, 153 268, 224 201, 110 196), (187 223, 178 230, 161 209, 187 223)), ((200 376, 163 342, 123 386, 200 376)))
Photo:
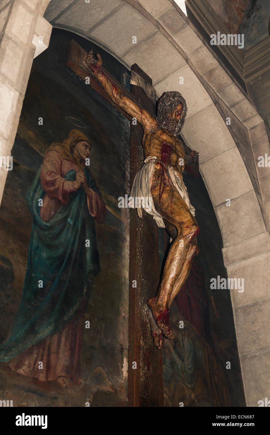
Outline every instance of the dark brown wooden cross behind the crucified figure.
MULTIPOLYGON (((89 50, 91 47, 89 47, 89 50)), ((87 52, 74 40, 67 47, 66 65, 81 79, 86 80, 113 107, 127 119, 131 117, 110 100, 103 87, 86 64, 87 52)), ((124 95, 135 100, 148 112, 154 113, 153 102, 139 86, 131 85, 131 93, 103 67, 101 70, 124 95)), ((152 80, 137 64, 131 70, 152 85, 152 80)), ((88 83, 87 82, 87 83, 88 83)), ((130 187, 143 166, 140 125, 130 124, 130 187)), ((163 406, 163 358, 162 351, 153 345, 150 326, 146 315, 146 301, 152 297, 159 283, 159 257, 157 224, 143 211, 143 219, 137 210, 130 208, 130 291, 129 291, 129 349, 128 349, 128 405, 163 406), (132 281, 137 281, 137 288, 132 281), (137 369, 133 369, 137 362, 137 369)))

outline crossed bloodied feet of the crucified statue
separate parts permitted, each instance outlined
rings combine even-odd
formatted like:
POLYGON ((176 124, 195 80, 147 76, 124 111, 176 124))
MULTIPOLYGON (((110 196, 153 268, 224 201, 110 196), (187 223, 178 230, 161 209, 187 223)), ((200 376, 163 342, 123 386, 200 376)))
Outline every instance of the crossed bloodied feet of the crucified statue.
POLYGON ((147 318, 150 323, 151 337, 154 340, 154 345, 161 349, 164 343, 164 337, 174 340, 175 337, 170 328, 169 313, 170 310, 160 307, 156 302, 156 297, 150 298, 147 301, 151 311, 147 311, 147 318))

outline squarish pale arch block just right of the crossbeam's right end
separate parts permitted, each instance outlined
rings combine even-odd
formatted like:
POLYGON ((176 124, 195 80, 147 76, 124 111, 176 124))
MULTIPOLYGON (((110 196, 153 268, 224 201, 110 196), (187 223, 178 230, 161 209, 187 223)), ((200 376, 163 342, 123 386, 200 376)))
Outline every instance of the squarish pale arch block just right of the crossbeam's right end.
POLYGON ((202 163, 200 169, 203 178, 207 180, 214 206, 222 204, 227 199, 232 200, 253 188, 236 146, 202 163))

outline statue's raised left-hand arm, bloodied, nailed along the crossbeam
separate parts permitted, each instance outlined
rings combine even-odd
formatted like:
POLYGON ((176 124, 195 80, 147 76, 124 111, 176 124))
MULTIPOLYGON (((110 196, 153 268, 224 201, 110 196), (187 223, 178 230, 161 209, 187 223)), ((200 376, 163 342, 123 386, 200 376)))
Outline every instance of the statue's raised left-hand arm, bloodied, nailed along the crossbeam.
POLYGON ((117 106, 121 107, 121 109, 127 112, 131 117, 136 118, 145 131, 154 131, 157 129, 156 118, 153 117, 153 115, 150 115, 150 113, 143 109, 139 104, 123 95, 121 90, 111 82, 103 71, 100 70, 100 67, 102 66, 100 54, 97 54, 97 60, 94 60, 93 50, 91 50, 87 55, 86 62, 87 66, 95 77, 97 77, 97 80, 107 92, 110 99, 113 100, 117 106))

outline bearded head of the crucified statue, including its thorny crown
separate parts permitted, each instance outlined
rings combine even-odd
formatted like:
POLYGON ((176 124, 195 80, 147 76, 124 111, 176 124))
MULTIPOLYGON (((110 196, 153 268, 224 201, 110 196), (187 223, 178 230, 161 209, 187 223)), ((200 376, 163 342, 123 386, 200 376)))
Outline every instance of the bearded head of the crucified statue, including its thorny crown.
POLYGON ((174 136, 178 136, 187 114, 186 100, 177 91, 164 92, 157 107, 159 127, 166 128, 174 136))

